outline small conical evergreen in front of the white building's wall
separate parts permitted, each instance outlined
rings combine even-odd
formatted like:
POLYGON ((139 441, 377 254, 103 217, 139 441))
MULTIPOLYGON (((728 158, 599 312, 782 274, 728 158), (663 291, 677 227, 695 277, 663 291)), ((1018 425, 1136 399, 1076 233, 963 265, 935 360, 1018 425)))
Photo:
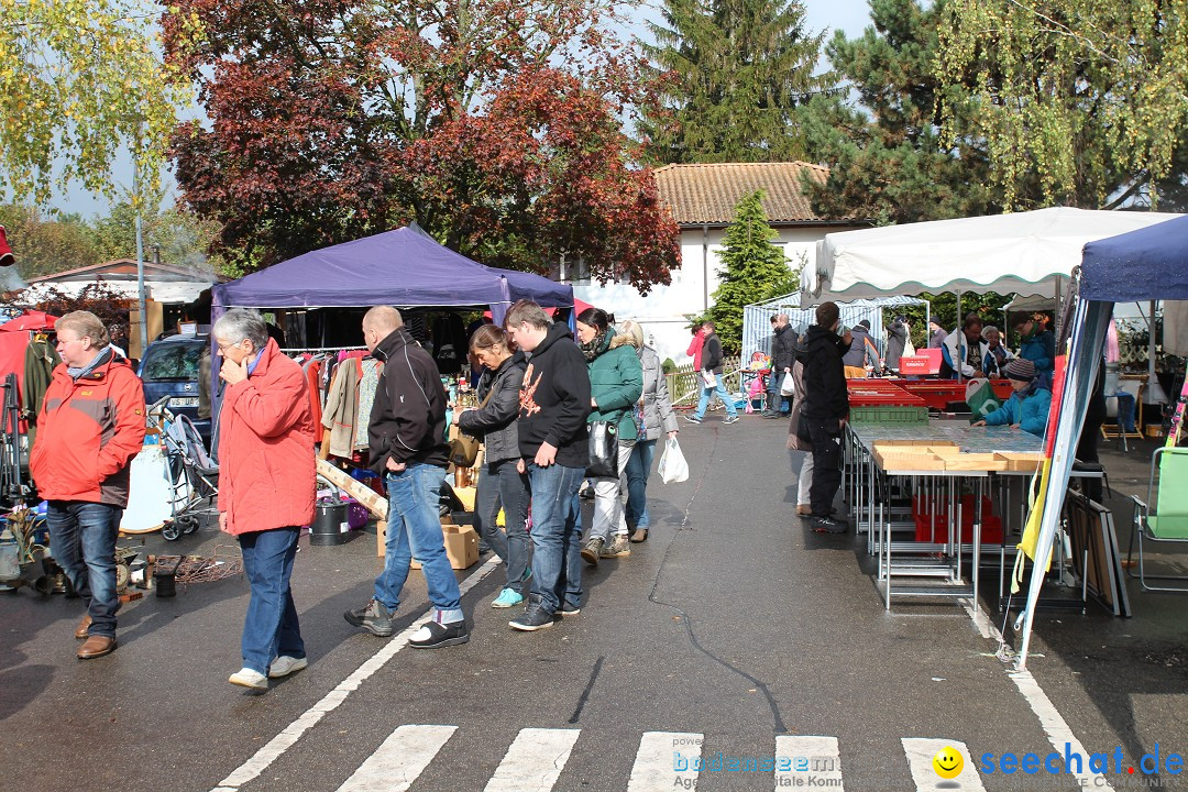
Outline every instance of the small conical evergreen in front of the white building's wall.
MULTIPOLYGON (((718 255, 726 266, 718 271, 721 283, 708 317, 728 353, 742 347, 742 308, 767 294, 775 284, 790 283, 788 256, 771 243, 777 234, 767 224, 760 201, 762 190, 738 202, 734 221, 726 228, 725 248, 718 255)), ((797 287, 798 283, 792 291, 797 287)))

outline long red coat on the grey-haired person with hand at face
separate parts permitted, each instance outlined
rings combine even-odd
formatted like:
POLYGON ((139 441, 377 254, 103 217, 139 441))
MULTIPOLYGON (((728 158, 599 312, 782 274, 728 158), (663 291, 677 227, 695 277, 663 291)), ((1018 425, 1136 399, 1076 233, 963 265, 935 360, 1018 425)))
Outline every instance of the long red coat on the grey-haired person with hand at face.
POLYGON ((301 365, 268 340, 255 370, 223 393, 219 511, 232 534, 314 521, 314 419, 301 365))

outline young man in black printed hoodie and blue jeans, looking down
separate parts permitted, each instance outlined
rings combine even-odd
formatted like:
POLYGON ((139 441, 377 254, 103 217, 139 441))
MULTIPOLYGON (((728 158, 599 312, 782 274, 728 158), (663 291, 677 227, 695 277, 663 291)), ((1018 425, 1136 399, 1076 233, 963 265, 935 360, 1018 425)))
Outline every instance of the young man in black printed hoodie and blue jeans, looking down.
POLYGON ((532 492, 532 591, 524 615, 507 622, 533 632, 551 627, 554 614, 582 607, 582 536, 575 506, 589 464, 586 418, 590 378, 569 328, 552 323, 522 299, 504 321, 512 342, 527 355, 520 387, 520 473, 532 492))

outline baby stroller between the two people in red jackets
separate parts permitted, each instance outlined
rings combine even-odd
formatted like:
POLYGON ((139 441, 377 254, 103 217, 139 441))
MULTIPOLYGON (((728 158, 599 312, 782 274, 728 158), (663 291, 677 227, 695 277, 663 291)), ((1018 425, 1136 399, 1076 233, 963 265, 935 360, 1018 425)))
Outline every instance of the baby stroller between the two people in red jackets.
POLYGON ((160 536, 173 541, 198 530, 202 515, 217 514, 219 463, 207 452, 194 422, 169 410, 165 397, 148 407, 150 425, 160 432, 170 476, 170 514, 160 536))

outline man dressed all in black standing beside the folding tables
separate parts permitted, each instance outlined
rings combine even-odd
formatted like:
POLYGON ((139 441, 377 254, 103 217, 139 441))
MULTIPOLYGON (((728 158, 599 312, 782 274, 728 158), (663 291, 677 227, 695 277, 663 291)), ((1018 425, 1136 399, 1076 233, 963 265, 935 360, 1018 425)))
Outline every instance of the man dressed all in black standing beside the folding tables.
POLYGON ((841 484, 841 425, 849 414, 849 393, 841 357, 849 349, 849 332, 838 335, 838 304, 822 303, 816 324, 805 335, 804 419, 813 438, 814 531, 845 533, 846 524, 833 517, 833 499, 841 484))

